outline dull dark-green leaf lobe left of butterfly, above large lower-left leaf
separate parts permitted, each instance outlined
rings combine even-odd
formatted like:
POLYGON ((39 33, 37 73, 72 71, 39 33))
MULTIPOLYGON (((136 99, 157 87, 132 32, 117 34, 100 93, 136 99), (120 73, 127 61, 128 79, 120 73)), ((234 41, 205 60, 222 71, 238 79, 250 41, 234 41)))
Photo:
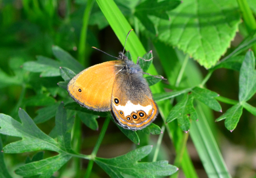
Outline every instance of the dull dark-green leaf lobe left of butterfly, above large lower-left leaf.
POLYGON ((60 102, 54 103, 47 107, 37 110, 38 115, 34 118, 34 123, 39 124, 45 121, 48 121, 56 115, 57 108, 59 107, 60 102))

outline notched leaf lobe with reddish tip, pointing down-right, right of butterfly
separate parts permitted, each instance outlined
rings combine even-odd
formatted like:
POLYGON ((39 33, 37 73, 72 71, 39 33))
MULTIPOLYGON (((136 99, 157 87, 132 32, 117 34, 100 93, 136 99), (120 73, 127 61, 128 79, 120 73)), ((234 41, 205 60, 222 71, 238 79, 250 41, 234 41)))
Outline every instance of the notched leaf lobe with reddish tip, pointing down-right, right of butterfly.
POLYGON ((222 112, 221 105, 215 99, 219 94, 205 88, 195 87, 192 89, 193 96, 215 111, 222 112))

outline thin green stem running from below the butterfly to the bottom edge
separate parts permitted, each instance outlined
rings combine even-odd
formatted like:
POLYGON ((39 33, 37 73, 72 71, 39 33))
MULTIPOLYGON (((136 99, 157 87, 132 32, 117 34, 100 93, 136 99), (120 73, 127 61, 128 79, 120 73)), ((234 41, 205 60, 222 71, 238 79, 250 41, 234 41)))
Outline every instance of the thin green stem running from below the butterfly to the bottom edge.
POLYGON ((90 177, 90 174, 91 174, 91 170, 93 169, 93 162, 94 162, 94 159, 95 159, 95 156, 99 150, 99 146, 101 145, 101 142, 104 138, 104 135, 106 133, 106 130, 108 128, 108 125, 109 125, 109 121, 110 121, 110 118, 111 116, 108 116, 106 117, 105 119, 105 122, 102 126, 102 129, 101 129, 101 133, 99 133, 99 138, 93 148, 93 152, 91 153, 91 160, 89 161, 89 164, 88 164, 88 167, 87 167, 87 170, 86 170, 86 173, 84 175, 84 178, 89 178, 90 177))

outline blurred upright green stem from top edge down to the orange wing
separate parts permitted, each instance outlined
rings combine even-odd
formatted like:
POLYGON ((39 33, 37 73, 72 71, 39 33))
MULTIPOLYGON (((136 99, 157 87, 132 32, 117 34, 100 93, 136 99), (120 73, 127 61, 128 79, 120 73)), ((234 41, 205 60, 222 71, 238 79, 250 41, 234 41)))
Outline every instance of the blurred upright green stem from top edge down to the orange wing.
POLYGON ((91 9, 93 7, 94 0, 88 0, 86 8, 84 10, 83 15, 83 26, 80 33, 80 41, 79 41, 79 48, 78 48, 78 61, 84 66, 87 67, 89 64, 86 63, 85 60, 85 49, 86 49, 86 38, 87 38, 87 28, 89 17, 91 13, 91 9))

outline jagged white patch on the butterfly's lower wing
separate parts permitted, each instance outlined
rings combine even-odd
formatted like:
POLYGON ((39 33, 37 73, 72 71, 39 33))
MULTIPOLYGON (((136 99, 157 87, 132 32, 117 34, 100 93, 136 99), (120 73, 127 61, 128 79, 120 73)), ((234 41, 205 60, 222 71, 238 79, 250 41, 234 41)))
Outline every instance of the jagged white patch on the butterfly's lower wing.
POLYGON ((136 111, 144 111, 147 115, 149 114, 149 111, 152 109, 152 105, 142 106, 140 104, 133 104, 131 101, 127 101, 127 103, 124 106, 121 105, 115 105, 113 104, 113 107, 117 109, 117 111, 123 111, 124 116, 131 115, 132 112, 136 111))

